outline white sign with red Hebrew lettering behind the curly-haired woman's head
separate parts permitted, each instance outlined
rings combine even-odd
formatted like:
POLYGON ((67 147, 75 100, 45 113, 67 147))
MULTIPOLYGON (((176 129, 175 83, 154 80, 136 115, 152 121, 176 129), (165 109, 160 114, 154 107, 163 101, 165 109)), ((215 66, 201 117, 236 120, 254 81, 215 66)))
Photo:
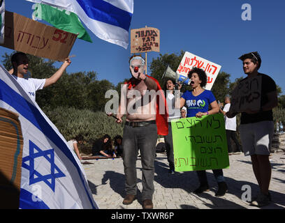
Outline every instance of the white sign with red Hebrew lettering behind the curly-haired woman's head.
MULTIPOLYGON (((180 66, 177 68, 177 74, 180 75, 178 80, 181 82, 185 77, 187 77, 189 71, 193 68, 201 68, 205 70, 207 75, 207 84, 205 89, 211 90, 216 80, 219 70, 221 70, 221 66, 217 63, 213 63, 211 61, 207 61, 200 56, 195 54, 191 54, 190 52, 185 52, 182 61, 180 62, 180 66)), ((189 82, 189 79, 188 79, 189 82)), ((187 83, 188 84, 188 83, 187 83)))

